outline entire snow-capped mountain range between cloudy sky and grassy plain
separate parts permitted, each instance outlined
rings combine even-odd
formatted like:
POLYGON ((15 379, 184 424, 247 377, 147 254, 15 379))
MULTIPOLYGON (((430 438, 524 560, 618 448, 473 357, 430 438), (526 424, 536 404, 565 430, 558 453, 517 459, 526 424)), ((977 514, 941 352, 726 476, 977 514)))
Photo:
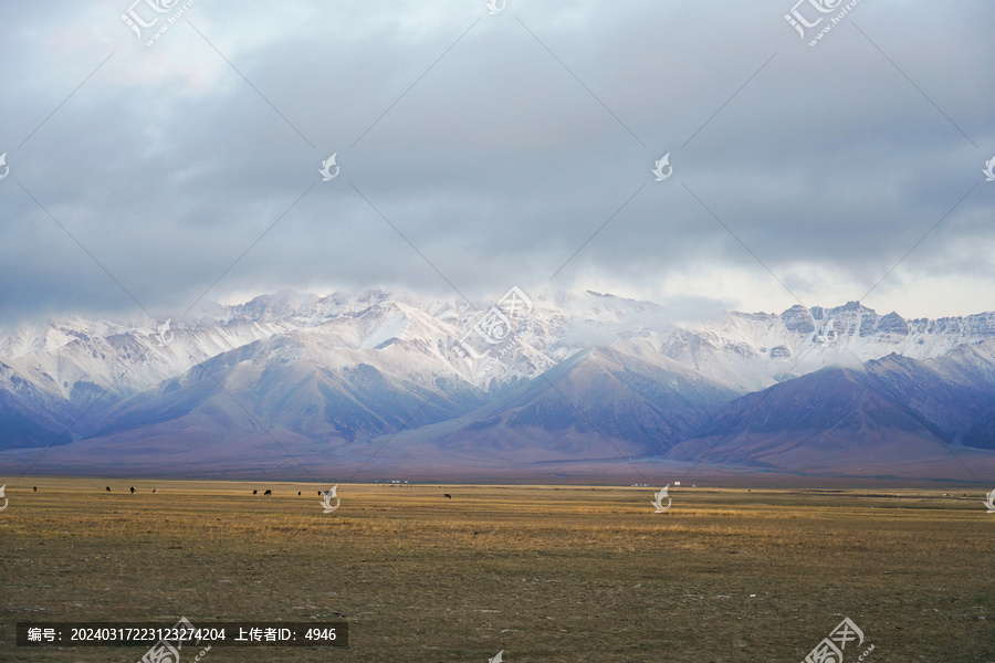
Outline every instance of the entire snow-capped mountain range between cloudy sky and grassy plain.
POLYGON ((285 291, 182 319, 0 332, 0 466, 53 446, 52 471, 181 469, 195 451, 234 471, 273 444, 348 464, 389 439, 377 462, 846 473, 857 444, 860 467, 928 475, 954 451, 987 467, 993 421, 995 313, 905 319, 850 302, 674 325, 663 306, 590 291, 285 291))

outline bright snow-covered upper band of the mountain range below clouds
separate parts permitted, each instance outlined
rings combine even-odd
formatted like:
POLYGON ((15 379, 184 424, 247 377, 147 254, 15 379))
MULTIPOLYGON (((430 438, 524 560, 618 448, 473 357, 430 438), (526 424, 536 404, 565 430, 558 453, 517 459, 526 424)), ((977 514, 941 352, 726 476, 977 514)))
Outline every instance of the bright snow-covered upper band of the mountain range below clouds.
MULTIPOLYGON (((320 351, 371 354, 375 365, 402 349, 419 359, 419 375, 459 375, 469 387, 500 389, 533 378, 593 346, 628 352, 642 361, 677 361, 739 391, 762 389, 824 366, 855 366, 896 352, 930 359, 956 347, 989 352, 995 313, 939 320, 878 315, 859 302, 834 308, 792 306, 781 315, 730 312, 716 320, 675 327, 666 306, 590 290, 528 293, 527 320, 515 320, 509 340, 485 339, 498 303, 423 299, 383 288, 325 296, 281 291, 235 305, 213 305, 199 316, 107 320, 70 316, 24 325, 0 337, 0 361, 51 398, 82 402, 95 392, 113 398, 149 389, 192 367, 255 341, 295 334, 316 335, 320 351), (471 334, 470 337, 467 337, 471 334), (474 357, 460 339, 478 343, 474 357), (387 356, 387 355, 384 355, 387 356), (429 370, 423 362, 434 362, 429 370), (96 391, 95 391, 96 390, 96 391)), ((496 334, 505 332, 495 328, 496 334)), ((318 350, 315 350, 318 351, 318 350)), ((357 357, 343 361, 359 361, 357 357)), ((391 370, 395 370, 391 368, 391 370)), ((404 371, 398 365, 397 370, 404 371)))

